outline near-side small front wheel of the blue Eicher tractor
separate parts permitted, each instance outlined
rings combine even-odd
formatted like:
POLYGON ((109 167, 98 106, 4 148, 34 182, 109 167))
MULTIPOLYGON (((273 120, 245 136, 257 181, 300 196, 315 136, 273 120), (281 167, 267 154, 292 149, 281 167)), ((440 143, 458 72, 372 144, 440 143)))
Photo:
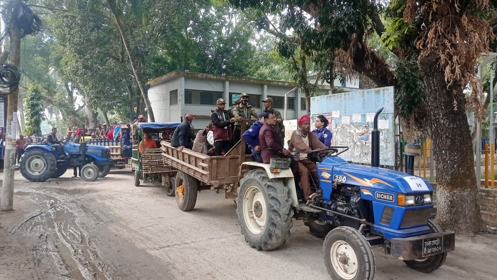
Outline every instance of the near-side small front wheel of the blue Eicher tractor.
POLYGON ((323 244, 325 264, 331 279, 372 280, 375 273, 373 251, 364 236, 351 227, 333 229, 323 244))

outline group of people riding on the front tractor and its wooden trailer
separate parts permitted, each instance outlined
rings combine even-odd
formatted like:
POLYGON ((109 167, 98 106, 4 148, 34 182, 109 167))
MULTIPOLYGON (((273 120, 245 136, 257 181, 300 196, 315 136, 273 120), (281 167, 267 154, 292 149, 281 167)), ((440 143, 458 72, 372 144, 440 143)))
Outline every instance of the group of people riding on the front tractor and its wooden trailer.
POLYGON ((305 200, 312 197, 309 176, 319 182, 316 163, 308 158, 311 150, 327 148, 331 145, 332 134, 328 130, 328 120, 320 115, 315 121, 315 130, 311 133, 311 120, 307 115, 297 121, 298 129, 288 140, 288 149, 284 147, 285 127, 281 113, 273 108, 273 100, 265 98, 264 109, 257 113, 248 102, 248 94, 242 94, 235 101, 231 110, 226 110, 226 101, 220 98, 217 109, 212 112, 211 122, 196 135, 191 123, 192 114, 186 114, 184 121, 173 133, 171 146, 193 149, 208 155, 225 155, 242 137, 248 145, 252 160, 270 163, 271 158, 290 157, 290 168, 298 174, 305 200), (241 121, 256 121, 241 135, 241 121))

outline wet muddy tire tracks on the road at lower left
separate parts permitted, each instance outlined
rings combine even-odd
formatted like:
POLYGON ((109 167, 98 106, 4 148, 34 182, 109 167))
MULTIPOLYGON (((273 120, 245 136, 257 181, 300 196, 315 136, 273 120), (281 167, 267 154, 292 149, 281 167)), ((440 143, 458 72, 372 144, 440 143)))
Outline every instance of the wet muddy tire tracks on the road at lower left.
POLYGON ((39 245, 32 250, 35 266, 48 265, 63 280, 113 279, 114 267, 98 256, 98 238, 84 232, 66 201, 40 192, 15 194, 31 196, 40 207, 38 212, 10 231, 38 235, 39 245), (50 257, 50 264, 46 264, 46 257, 50 257))

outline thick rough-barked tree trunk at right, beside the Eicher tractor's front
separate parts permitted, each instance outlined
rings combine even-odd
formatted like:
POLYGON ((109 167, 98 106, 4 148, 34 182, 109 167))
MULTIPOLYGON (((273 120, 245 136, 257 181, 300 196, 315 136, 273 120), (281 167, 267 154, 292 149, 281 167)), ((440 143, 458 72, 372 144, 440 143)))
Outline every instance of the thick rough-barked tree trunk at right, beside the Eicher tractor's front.
POLYGON ((419 65, 424 73, 425 104, 437 163, 436 220, 443 228, 473 235, 481 230, 482 217, 463 87, 447 89, 444 69, 434 57, 424 58, 419 65))

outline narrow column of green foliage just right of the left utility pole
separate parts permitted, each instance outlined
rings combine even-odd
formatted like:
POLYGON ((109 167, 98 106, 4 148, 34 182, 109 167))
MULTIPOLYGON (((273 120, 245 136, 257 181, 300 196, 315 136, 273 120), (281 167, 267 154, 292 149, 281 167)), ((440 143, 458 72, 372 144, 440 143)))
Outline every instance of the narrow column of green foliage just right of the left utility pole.
POLYGON ((27 89, 27 97, 24 98, 25 103, 25 128, 24 135, 26 136, 41 136, 40 125, 43 121, 43 103, 41 101, 40 88, 36 84, 30 84, 27 89))

